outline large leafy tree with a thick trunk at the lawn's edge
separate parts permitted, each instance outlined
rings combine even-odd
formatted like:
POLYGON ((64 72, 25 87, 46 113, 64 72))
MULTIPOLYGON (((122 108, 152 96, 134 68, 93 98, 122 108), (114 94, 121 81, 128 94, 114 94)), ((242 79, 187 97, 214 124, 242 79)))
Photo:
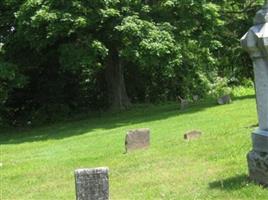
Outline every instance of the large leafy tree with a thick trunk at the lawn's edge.
MULTIPOLYGON (((124 109, 130 105, 124 81, 128 61, 166 65, 180 57, 171 25, 155 23, 149 12, 148 5, 134 0, 26 0, 15 15, 14 38, 35 55, 55 51, 58 55, 48 58, 54 61, 45 65, 74 73, 103 68, 110 105, 124 109)), ((35 67, 44 65, 41 61, 35 67)))

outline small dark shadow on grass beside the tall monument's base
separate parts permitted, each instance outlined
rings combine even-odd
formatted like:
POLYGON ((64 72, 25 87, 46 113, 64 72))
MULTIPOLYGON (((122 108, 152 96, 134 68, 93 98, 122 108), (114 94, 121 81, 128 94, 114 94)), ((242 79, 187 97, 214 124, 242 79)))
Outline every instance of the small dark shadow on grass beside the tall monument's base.
POLYGON ((219 190, 238 190, 246 187, 249 183, 250 180, 248 176, 246 174, 242 174, 209 183, 209 188, 219 190))

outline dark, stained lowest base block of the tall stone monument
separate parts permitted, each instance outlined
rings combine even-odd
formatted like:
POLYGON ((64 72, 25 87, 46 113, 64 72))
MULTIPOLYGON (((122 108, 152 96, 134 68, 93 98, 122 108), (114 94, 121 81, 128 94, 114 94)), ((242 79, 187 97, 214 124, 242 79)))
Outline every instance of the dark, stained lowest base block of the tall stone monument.
POLYGON ((256 183, 268 185, 268 153, 251 151, 247 160, 249 178, 256 183))

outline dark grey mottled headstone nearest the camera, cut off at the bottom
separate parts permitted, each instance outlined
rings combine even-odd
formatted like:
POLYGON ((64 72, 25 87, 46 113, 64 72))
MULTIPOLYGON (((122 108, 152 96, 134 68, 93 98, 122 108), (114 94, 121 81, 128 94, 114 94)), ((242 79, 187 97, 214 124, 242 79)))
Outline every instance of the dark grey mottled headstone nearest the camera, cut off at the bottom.
POLYGON ((109 169, 75 170, 77 200, 109 200, 109 169))

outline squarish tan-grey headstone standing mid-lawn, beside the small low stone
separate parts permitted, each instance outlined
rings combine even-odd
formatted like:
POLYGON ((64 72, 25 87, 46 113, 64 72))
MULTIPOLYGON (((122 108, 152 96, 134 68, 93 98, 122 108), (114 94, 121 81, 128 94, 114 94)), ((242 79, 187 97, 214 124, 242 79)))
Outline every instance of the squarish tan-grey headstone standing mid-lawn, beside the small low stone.
POLYGON ((125 138, 126 152, 148 148, 150 146, 150 130, 147 128, 131 130, 125 138))

